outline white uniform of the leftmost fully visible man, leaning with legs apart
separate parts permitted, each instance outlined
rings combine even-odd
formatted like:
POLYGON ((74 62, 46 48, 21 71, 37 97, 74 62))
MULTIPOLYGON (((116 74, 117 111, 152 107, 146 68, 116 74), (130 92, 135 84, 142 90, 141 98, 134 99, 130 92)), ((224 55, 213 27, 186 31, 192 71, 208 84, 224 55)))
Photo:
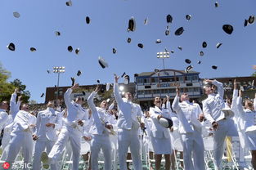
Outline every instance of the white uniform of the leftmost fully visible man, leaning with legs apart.
POLYGON ((9 145, 9 152, 7 154, 8 163, 13 163, 17 154, 22 148, 24 163, 30 163, 33 152, 33 129, 30 128, 34 123, 33 117, 24 110, 20 110, 13 121, 13 128, 11 131, 11 141, 9 145))

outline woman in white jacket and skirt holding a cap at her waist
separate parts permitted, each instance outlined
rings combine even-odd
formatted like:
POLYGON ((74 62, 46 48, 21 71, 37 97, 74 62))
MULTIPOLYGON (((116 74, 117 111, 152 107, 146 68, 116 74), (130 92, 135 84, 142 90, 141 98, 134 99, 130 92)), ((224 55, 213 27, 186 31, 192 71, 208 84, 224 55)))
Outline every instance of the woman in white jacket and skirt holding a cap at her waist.
POLYGON ((155 153, 155 169, 161 168, 162 154, 164 154, 165 169, 169 170, 171 167, 170 155, 172 154, 171 136, 169 129, 159 124, 159 119, 162 117, 172 118, 169 111, 162 108, 162 100, 159 96, 155 97, 154 105, 155 107, 150 107, 150 119, 152 120, 150 137, 155 153))

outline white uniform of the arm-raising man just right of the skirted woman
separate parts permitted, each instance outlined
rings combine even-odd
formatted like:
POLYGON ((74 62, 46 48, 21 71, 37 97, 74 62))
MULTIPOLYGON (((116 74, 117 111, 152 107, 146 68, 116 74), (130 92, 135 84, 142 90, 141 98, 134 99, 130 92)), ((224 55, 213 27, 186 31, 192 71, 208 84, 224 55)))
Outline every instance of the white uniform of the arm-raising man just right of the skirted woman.
POLYGON ((201 135, 202 125, 198 121, 199 114, 203 113, 200 105, 190 103, 189 101, 182 101, 180 103, 179 96, 175 96, 173 110, 177 112, 179 119, 179 132, 181 134, 185 165, 184 169, 204 169, 204 141, 201 135))

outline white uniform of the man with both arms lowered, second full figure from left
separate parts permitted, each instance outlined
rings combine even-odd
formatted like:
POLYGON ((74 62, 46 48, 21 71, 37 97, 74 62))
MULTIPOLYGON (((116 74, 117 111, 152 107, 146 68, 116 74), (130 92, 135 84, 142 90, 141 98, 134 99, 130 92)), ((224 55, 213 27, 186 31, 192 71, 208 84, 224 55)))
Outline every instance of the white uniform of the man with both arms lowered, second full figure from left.
MULTIPOLYGON (((52 146, 57 140, 56 130, 61 128, 62 115, 60 112, 55 111, 53 108, 47 108, 38 112, 37 123, 36 123, 36 132, 35 135, 38 136, 38 139, 35 144, 34 149, 34 161, 33 169, 41 169, 41 154, 47 149, 47 154, 52 150, 52 146), (47 127, 47 123, 53 123, 55 128, 47 127)), ((51 169, 56 169, 56 164, 51 164, 51 169)))

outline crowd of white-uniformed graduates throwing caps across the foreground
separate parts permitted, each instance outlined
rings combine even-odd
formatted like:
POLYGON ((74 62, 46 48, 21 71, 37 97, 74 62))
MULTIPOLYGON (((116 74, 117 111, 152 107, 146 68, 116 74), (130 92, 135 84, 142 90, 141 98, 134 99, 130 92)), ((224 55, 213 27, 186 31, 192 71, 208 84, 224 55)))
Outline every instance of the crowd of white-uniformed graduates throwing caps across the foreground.
POLYGON ((47 108, 37 114, 30 111, 28 104, 20 102, 16 89, 10 104, 8 101, 0 103, 0 128, 3 129, 1 160, 13 164, 21 153, 24 163, 32 164, 31 169, 54 170, 61 169, 62 154, 70 152, 71 169, 78 170, 83 144, 88 143, 90 148, 83 154, 83 159, 88 161, 88 169, 98 169, 100 152, 104 157, 104 169, 112 169, 114 147, 118 148, 118 169, 129 169, 127 159, 131 157, 132 168, 141 170, 141 147, 146 143, 149 147, 144 151, 148 152, 150 159, 155 159, 155 167, 150 164, 150 169, 161 168, 163 155, 164 169, 177 169, 173 145, 179 139, 183 169, 204 170, 207 163, 203 138, 213 136, 213 164, 218 170, 222 169, 226 137, 238 136, 244 154, 245 150, 251 154, 249 165, 238 166, 256 169, 256 94, 254 101, 245 99, 243 106, 243 92, 238 90, 236 81, 229 101, 223 99, 222 83, 206 79, 204 93, 207 98, 202 102, 202 108, 190 102, 190 96, 181 93, 177 85, 177 95, 172 104, 168 96, 165 101, 155 96, 155 106, 144 113, 140 105, 132 102, 130 92, 122 98, 118 81, 119 77, 115 75, 115 102, 111 105, 107 101, 95 105, 94 97, 101 89, 97 85, 88 97, 89 107, 83 108, 85 101, 82 98, 77 97, 74 101, 70 98, 74 89, 79 87, 75 83, 65 92, 65 109, 49 101, 47 108))

